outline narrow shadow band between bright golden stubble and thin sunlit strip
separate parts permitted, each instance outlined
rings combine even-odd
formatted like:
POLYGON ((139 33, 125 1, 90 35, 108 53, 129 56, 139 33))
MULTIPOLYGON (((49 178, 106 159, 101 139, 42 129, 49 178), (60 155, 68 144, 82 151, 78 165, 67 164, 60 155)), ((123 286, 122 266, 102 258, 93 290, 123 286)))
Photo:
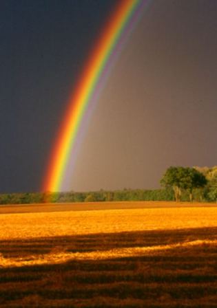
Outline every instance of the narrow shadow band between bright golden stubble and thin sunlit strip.
POLYGON ((0 241, 0 254, 4 258, 23 257, 50 252, 93 252, 115 248, 152 247, 172 245, 196 240, 217 239, 217 228, 191 228, 180 230, 150 230, 116 232, 76 236, 54 236, 37 239, 0 241))

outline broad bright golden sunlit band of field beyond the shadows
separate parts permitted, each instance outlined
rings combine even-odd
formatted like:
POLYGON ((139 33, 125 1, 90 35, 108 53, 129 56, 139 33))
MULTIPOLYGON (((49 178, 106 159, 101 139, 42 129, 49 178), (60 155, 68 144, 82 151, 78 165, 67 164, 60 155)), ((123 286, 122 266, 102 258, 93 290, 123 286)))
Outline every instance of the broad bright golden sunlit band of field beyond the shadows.
MULTIPOLYGON (((148 207, 143 202, 136 203, 143 208, 133 208, 134 203, 130 204, 132 208, 126 203, 127 209, 117 210, 109 209, 110 203, 98 203, 97 210, 87 210, 87 204, 81 203, 85 210, 55 212, 54 206, 54 212, 0 214, 0 240, 217 226, 217 206, 182 207, 182 203, 173 203, 174 207, 165 207, 164 202, 161 207, 150 208, 150 202, 148 207)), ((153 202, 153 206, 156 204, 153 202)))

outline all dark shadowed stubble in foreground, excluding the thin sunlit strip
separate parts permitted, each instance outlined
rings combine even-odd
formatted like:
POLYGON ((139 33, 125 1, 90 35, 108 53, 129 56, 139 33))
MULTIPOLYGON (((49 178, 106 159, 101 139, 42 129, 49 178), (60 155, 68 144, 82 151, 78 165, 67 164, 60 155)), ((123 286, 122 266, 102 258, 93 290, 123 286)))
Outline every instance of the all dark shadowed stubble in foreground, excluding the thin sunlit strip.
MULTIPOLYGON (((121 232, 1 241, 5 258, 55 251, 214 241, 217 228, 121 232)), ((0 268, 1 307, 216 307, 217 246, 198 244, 158 254, 55 265, 0 268)))

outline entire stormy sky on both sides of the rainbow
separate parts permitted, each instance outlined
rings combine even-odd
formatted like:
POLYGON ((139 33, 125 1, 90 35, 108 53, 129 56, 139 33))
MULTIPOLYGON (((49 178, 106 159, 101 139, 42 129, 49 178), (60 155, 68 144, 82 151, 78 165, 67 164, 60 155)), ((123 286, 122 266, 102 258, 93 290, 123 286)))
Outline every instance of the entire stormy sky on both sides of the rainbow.
MULTIPOLYGON (((39 191, 72 88, 116 0, 0 4, 0 192, 39 191)), ((150 1, 66 189, 154 188, 217 164, 217 1, 150 1)))

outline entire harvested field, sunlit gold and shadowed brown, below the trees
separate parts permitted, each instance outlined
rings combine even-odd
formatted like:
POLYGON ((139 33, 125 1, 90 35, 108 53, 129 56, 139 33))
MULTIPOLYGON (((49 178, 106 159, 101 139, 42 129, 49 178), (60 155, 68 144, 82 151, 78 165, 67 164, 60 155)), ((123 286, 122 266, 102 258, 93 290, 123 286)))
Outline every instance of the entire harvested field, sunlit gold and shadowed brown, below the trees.
POLYGON ((201 203, 0 207, 0 307, 216 307, 216 217, 201 203))

